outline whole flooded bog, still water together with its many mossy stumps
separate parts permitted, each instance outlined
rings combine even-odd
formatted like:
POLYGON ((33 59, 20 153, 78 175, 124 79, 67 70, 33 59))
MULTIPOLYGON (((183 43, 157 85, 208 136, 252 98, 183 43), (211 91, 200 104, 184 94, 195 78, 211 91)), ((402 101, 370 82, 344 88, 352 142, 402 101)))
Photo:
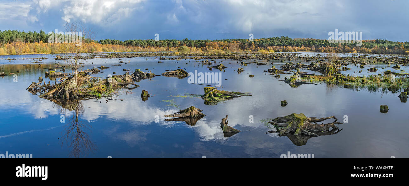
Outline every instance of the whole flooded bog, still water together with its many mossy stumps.
POLYGON ((57 54, 0 56, 0 149, 103 158, 409 154, 405 87, 394 87, 407 83, 406 58, 134 54, 87 54, 81 84, 57 54))

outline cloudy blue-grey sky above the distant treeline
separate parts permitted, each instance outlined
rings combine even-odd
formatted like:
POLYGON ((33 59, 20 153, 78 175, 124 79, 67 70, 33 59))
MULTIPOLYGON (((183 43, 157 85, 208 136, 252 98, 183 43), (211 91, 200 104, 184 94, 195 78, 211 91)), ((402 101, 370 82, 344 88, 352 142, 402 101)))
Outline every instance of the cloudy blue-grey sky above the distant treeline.
POLYGON ((0 0, 0 30, 65 31, 83 22, 94 39, 362 39, 409 41, 408 0, 0 0))

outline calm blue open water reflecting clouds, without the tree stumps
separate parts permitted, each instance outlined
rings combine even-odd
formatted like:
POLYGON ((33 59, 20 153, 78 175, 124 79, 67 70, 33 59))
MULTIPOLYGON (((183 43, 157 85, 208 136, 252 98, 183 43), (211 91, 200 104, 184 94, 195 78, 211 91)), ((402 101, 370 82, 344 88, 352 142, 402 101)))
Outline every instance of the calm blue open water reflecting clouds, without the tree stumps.
MULTIPOLYGON (((56 66, 57 61, 53 60, 55 56, 0 56, 0 72, 8 74, 20 71, 16 75, 0 77, 0 153, 33 154, 33 157, 213 158, 280 157, 290 151, 295 154, 314 154, 315 158, 409 157, 408 103, 400 102, 397 97, 399 93, 354 91, 326 84, 304 84, 292 88, 278 81, 290 75, 282 74, 277 79, 263 74, 264 70, 271 68, 271 64, 240 66, 236 60, 216 60, 217 64, 222 61, 228 67, 223 72, 217 69, 210 71, 207 65, 203 66, 194 60, 88 59, 81 67, 83 70, 101 65, 110 67, 104 69, 104 73, 93 75, 101 78, 113 72, 116 75, 123 74, 123 69, 149 69, 159 75, 165 70, 179 68, 187 72, 221 72, 222 88, 218 89, 251 92, 252 96, 207 105, 196 96, 204 93, 205 86, 189 84, 188 78, 157 76, 137 82, 137 89, 121 89, 119 94, 112 97, 123 101, 106 98, 82 100, 80 104, 83 112, 77 115, 26 90, 31 82, 37 82, 38 77, 44 78, 47 71, 44 68, 56 66), (33 63, 32 58, 40 57, 48 59, 33 63), (16 60, 9 62, 5 58, 16 60), (130 63, 113 66, 120 64, 119 61, 130 63), (238 67, 244 67, 245 71, 238 74, 234 71, 238 67), (249 75, 254 75, 254 78, 249 78, 249 75), (146 101, 141 99, 142 90, 151 94, 146 101), (288 105, 280 106, 281 100, 287 100, 288 105), (389 106, 388 113, 380 112, 382 104, 389 106), (189 106, 196 106, 206 114, 196 125, 164 120, 164 115, 189 106), (304 113, 307 117, 335 115, 339 122, 343 122, 344 116, 347 116, 348 122, 339 125, 342 131, 334 135, 311 137, 308 141, 267 133, 273 128, 265 124, 267 118, 291 113, 304 113), (226 115, 229 115, 229 126, 242 132, 231 137, 223 135, 220 122, 226 115), (251 122, 252 118, 254 122, 251 122), (61 122, 62 119, 65 119, 64 122, 61 122)), ((59 62, 60 65, 66 65, 61 60, 59 62)), ((283 64, 279 60, 269 62, 274 62, 276 68, 283 64)), ((368 64, 364 69, 353 65, 348 67, 353 69, 342 73, 354 75, 353 71, 357 70, 362 70, 359 75, 376 75, 384 70, 400 72, 383 63, 368 64), (369 67, 380 70, 371 73, 366 71, 369 67)), ((407 72, 409 69, 402 66, 400 70, 407 72)), ((44 80, 52 84, 55 82, 49 78, 44 80)), ((327 121, 325 123, 333 120, 327 121)))

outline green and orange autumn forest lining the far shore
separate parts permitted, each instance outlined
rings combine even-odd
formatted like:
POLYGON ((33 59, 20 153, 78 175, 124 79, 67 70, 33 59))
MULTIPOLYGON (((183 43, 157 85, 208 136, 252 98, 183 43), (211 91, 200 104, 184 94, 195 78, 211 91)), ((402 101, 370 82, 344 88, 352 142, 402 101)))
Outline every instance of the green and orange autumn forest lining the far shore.
MULTIPOLYGON (((17 30, 0 31, 0 55, 29 53, 64 53, 64 44, 48 43, 49 35, 40 32, 17 30), (36 44, 37 43, 37 44, 36 44), (17 49, 18 48, 18 49, 17 49)), ((362 46, 356 43, 330 43, 328 40, 312 38, 273 37, 225 40, 99 40, 85 41, 88 52, 113 51, 178 51, 181 46, 189 47, 191 52, 226 52, 226 51, 315 51, 343 53, 389 53, 409 54, 409 42, 388 40, 364 40, 362 46)))

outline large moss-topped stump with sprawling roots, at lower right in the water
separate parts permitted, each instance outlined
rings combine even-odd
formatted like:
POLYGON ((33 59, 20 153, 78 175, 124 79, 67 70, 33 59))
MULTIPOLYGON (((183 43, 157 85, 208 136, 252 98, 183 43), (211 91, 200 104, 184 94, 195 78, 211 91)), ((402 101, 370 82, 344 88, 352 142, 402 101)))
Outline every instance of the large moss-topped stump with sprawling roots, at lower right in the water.
POLYGON ((277 132, 280 134, 280 136, 285 133, 291 133, 294 135, 305 134, 318 136, 317 134, 311 133, 310 131, 328 131, 329 128, 339 129, 337 126, 335 126, 335 124, 342 124, 340 122, 337 122, 337 118, 335 118, 335 116, 317 119, 316 117, 306 117, 303 113, 292 113, 284 117, 277 117, 269 123, 276 126, 277 132), (335 121, 328 124, 317 124, 317 122, 322 122, 330 118, 335 119, 335 121))

